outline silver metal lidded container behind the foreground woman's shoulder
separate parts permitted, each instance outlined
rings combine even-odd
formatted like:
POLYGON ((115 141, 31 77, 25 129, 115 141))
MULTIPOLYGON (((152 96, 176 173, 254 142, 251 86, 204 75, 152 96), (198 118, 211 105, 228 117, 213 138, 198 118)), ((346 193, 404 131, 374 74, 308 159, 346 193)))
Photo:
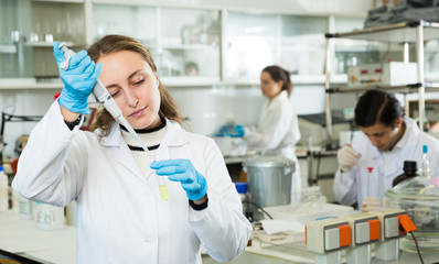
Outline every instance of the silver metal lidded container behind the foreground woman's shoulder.
POLYGON ((295 162, 280 155, 260 155, 246 160, 243 167, 247 173, 248 198, 254 206, 290 204, 295 162))

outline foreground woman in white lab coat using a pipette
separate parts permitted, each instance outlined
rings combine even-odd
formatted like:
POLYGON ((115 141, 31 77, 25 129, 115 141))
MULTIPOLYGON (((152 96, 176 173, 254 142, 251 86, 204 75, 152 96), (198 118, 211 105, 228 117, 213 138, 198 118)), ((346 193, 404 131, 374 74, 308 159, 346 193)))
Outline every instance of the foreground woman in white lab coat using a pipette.
MULTIPOLYGON (((58 43, 54 56, 65 61, 58 43)), ((244 251, 251 226, 220 150, 182 129, 146 47, 104 36, 60 76, 63 91, 30 135, 12 186, 55 206, 76 200, 77 263, 202 263, 201 246, 227 262, 244 251), (149 152, 106 110, 94 132, 79 130, 97 78, 149 152)))

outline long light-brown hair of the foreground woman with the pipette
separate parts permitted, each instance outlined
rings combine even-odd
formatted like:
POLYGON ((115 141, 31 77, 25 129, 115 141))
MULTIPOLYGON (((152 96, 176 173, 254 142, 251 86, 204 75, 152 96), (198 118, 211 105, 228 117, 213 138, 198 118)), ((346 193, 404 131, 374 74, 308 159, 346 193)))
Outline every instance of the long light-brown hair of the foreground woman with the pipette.
MULTIPOLYGON (((150 51, 130 36, 106 35, 95 42, 87 50, 88 55, 95 62, 97 62, 101 56, 121 51, 129 51, 140 54, 151 67, 152 72, 157 74, 157 67, 150 51)), ((171 94, 161 82, 159 84, 159 91, 161 99, 159 116, 173 120, 181 125, 183 123, 183 119, 180 116, 176 103, 171 97, 171 94)), ((90 130, 94 131, 96 129, 101 129, 104 134, 107 135, 115 119, 111 117, 111 114, 106 109, 103 109, 98 111, 95 121, 90 125, 90 130)))

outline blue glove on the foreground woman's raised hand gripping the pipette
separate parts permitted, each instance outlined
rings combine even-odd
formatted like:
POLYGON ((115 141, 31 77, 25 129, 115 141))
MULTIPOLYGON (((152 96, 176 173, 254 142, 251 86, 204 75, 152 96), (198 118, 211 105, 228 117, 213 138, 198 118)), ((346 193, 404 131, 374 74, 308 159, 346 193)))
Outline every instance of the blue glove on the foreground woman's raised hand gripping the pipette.
POLYGON ((75 54, 66 70, 60 67, 65 59, 63 52, 58 48, 60 43, 53 43, 53 55, 58 66, 60 77, 64 82, 58 102, 72 112, 89 113, 87 99, 99 77, 101 64, 95 66, 95 62, 87 55, 86 51, 75 54))

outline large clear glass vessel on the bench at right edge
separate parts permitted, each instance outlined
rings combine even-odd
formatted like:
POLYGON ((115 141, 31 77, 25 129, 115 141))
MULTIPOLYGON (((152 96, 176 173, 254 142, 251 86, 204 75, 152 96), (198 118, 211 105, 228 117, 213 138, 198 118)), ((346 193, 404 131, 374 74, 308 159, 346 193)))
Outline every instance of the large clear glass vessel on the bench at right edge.
MULTIPOLYGON (((414 232, 421 253, 439 252, 439 187, 422 176, 406 179, 386 191, 393 208, 404 209, 417 227, 414 232)), ((401 240, 401 249, 416 252, 413 238, 401 240)))

